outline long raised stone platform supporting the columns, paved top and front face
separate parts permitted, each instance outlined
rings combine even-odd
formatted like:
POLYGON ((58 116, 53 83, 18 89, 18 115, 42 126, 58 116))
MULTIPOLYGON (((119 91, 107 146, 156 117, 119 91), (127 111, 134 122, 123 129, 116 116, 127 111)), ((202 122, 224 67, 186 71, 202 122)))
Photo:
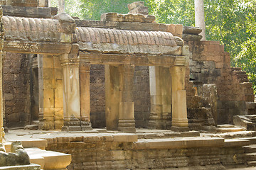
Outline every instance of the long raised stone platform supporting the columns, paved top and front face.
MULTIPOLYGON (((27 147, 35 141, 34 147, 71 154, 68 169, 242 169, 253 161, 254 154, 249 157, 246 146, 256 144, 254 136, 254 132, 232 130, 222 134, 147 129, 136 133, 10 130, 6 140, 21 140, 27 147)), ((41 152, 26 150, 30 156, 41 152)))

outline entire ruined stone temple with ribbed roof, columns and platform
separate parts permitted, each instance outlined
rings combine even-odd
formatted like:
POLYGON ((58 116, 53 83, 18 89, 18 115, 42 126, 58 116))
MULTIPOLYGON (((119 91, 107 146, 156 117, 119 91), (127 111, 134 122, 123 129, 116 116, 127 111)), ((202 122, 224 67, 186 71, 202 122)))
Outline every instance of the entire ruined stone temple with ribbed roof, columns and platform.
POLYGON ((0 169, 255 166, 252 84, 200 28, 142 2, 101 21, 0 4, 0 169))

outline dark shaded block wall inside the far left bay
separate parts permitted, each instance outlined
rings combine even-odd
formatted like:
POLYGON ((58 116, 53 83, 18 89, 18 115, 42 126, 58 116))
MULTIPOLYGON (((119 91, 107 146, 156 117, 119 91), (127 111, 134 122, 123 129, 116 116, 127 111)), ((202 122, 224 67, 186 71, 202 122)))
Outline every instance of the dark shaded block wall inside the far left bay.
POLYGON ((30 121, 29 55, 4 52, 4 110, 7 127, 22 127, 30 121))

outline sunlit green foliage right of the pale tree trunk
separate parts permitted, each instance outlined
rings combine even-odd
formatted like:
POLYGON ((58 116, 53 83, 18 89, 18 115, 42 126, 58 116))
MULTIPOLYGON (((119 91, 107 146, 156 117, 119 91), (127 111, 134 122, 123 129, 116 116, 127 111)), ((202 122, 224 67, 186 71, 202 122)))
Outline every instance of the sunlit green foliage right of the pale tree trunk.
POLYGON ((230 52, 231 64, 250 36, 246 19, 250 6, 241 0, 206 1, 206 39, 219 40, 230 52))

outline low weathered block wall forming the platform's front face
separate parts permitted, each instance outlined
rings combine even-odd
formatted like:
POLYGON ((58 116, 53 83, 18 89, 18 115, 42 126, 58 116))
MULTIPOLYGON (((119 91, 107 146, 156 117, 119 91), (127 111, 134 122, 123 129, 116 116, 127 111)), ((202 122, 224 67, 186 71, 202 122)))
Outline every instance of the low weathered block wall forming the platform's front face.
MULTIPOLYGON (((128 137, 129 138, 129 137, 128 137)), ((133 138, 133 137, 132 137, 133 138)), ((46 149, 72 154, 68 169, 225 169, 223 165, 245 164, 242 147, 220 147, 204 141, 197 147, 183 147, 175 142, 161 145, 161 140, 122 142, 124 135, 48 138, 46 149), (115 139, 118 138, 117 141, 115 139), (151 141, 151 142, 150 142, 151 141), (159 145, 160 142, 160 145, 159 145), (176 146, 176 148, 174 147, 176 146), (154 147, 154 148, 152 148, 154 147)), ((164 141, 164 140, 163 140, 164 141)), ((190 143, 190 142, 188 142, 190 143)), ((191 142, 195 144, 195 141, 191 142)))

